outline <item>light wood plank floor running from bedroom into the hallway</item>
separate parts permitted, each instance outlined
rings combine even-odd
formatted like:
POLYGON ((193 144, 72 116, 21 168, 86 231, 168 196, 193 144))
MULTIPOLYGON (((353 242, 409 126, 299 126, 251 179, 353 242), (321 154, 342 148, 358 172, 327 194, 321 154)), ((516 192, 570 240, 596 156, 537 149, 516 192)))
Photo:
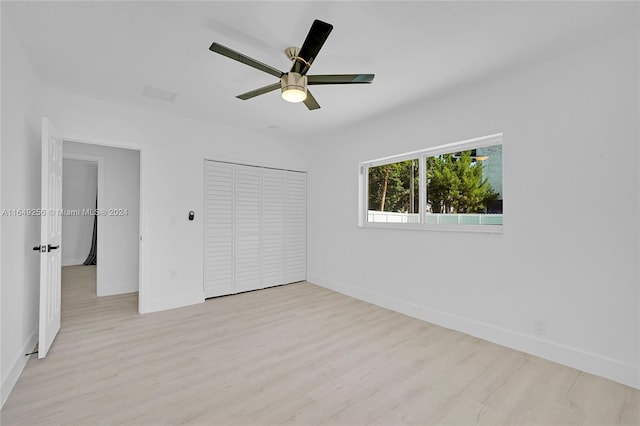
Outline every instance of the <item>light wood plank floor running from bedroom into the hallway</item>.
POLYGON ((3 425, 640 424, 638 390, 309 283, 141 316, 63 274, 3 425))

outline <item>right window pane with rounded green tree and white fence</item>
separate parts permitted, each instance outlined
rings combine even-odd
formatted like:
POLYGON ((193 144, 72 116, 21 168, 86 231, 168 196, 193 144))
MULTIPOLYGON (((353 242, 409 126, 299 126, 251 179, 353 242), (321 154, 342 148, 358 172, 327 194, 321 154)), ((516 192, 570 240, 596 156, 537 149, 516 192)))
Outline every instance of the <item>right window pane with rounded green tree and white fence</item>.
POLYGON ((502 225, 502 145, 426 158, 425 222, 502 225))

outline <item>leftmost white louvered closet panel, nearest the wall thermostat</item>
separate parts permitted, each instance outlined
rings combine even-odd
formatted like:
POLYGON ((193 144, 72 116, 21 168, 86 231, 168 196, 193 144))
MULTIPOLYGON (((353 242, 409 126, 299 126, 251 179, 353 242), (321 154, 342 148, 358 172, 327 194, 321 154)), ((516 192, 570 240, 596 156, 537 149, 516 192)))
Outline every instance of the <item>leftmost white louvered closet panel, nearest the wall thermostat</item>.
POLYGON ((233 273, 233 164, 205 162, 204 294, 232 294, 233 273))

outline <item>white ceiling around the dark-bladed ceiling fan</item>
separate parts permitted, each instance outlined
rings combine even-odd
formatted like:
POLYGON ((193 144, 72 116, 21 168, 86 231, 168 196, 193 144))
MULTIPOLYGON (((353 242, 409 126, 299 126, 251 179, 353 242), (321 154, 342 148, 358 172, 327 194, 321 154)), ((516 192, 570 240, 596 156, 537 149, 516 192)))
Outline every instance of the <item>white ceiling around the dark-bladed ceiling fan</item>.
POLYGON ((614 2, 2 2, 46 87, 259 131, 319 132, 409 107, 631 28, 614 2), (316 86, 308 111, 277 79, 209 51, 213 41, 283 71, 314 19, 334 25, 310 74, 374 73, 316 86), (174 102, 142 95, 145 86, 174 102))

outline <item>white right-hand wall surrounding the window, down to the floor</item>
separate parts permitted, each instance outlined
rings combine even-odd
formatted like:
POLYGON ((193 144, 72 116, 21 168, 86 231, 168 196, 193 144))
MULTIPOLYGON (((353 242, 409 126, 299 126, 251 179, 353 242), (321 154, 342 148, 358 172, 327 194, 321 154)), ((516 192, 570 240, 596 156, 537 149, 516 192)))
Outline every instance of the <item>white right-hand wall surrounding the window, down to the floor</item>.
POLYGON ((640 387, 638 40, 583 46, 317 141, 308 280, 640 387), (358 227, 359 162, 499 132, 502 234, 358 227))

